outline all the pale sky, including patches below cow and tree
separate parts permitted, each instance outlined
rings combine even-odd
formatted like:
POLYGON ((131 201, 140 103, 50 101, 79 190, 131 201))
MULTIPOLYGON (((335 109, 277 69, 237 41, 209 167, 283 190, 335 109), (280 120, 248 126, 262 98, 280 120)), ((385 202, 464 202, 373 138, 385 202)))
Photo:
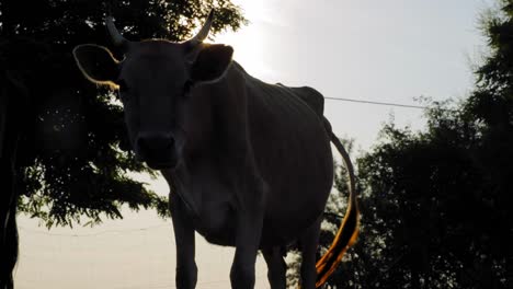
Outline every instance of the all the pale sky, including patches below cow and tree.
MULTIPOLYGON (((472 66, 487 51, 479 13, 491 0, 237 0, 250 23, 213 42, 233 46, 248 72, 286 85, 309 85, 324 96, 413 104, 414 97, 464 99, 472 66)), ((326 101, 337 135, 360 152, 384 123, 422 129, 422 111, 326 101)), ((159 194, 162 180, 148 181, 159 194)), ((47 231, 19 217, 21 256, 16 288, 174 288, 170 221, 152 211, 124 210, 125 219, 93 229, 47 231)), ((196 236, 197 288, 229 288, 233 251, 196 236)), ((256 288, 269 288, 263 261, 256 288)))

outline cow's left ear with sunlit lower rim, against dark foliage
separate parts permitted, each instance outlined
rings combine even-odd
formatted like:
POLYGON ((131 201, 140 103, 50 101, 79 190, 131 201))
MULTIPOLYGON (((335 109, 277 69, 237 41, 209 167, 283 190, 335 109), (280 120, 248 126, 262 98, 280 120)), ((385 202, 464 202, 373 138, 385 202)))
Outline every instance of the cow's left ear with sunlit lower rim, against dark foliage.
POLYGON ((117 78, 119 61, 107 48, 95 44, 82 44, 75 47, 73 57, 87 79, 96 84, 116 85, 114 81, 117 78))

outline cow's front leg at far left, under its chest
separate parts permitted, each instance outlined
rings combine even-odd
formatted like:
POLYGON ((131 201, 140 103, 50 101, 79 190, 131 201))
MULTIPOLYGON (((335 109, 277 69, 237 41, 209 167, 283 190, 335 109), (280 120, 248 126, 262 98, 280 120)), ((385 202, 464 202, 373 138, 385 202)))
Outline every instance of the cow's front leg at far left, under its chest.
POLYGON ((194 229, 186 216, 185 204, 176 193, 169 195, 169 207, 173 221, 174 240, 176 243, 176 288, 195 288, 197 267, 194 261, 194 229))

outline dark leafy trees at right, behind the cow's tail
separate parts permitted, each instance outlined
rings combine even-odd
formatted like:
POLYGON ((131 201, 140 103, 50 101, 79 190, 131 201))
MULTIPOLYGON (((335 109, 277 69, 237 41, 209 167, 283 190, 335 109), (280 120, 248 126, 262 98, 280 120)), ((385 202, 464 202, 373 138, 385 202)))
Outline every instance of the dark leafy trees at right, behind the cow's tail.
POLYGON ((472 93, 358 160, 362 233, 338 288, 513 288, 513 1, 483 18, 472 93))

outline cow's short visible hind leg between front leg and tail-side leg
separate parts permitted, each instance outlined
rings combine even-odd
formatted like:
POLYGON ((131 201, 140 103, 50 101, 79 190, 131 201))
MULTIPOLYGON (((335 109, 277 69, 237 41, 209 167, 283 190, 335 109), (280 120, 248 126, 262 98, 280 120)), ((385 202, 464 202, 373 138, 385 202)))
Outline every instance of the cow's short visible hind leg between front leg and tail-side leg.
POLYGON ((262 250, 265 263, 267 264, 267 279, 271 289, 286 288, 287 265, 283 259, 282 250, 278 246, 262 250))

